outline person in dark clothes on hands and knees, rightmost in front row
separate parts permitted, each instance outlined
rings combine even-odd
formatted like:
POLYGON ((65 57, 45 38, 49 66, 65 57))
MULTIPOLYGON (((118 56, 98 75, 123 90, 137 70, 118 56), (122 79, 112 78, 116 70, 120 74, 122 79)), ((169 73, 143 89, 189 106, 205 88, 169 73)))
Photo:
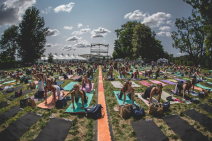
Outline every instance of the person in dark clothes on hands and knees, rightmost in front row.
POLYGON ((190 89, 191 89, 191 81, 187 81, 185 84, 183 82, 178 82, 175 86, 175 91, 171 90, 174 94, 181 95, 181 90, 183 90, 183 101, 185 101, 184 96, 185 96, 185 91, 188 90, 188 95, 190 95, 190 89))

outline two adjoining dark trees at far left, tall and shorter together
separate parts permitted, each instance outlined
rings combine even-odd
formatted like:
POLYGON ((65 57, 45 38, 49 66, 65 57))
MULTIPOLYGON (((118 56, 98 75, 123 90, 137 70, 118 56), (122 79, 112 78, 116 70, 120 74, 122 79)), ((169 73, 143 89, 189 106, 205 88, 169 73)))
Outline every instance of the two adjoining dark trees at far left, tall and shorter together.
POLYGON ((22 62, 34 63, 45 52, 48 27, 35 7, 25 11, 18 26, 12 25, 4 31, 0 39, 0 63, 15 62, 15 55, 22 62))

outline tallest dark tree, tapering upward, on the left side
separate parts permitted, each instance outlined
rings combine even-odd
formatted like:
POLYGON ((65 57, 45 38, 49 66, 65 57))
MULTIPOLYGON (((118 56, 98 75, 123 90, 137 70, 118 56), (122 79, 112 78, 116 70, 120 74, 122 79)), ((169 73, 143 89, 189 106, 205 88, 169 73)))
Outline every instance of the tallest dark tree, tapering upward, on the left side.
POLYGON ((48 28, 44 28, 44 18, 39 13, 35 7, 28 8, 19 24, 18 53, 23 62, 34 62, 45 52, 48 28))

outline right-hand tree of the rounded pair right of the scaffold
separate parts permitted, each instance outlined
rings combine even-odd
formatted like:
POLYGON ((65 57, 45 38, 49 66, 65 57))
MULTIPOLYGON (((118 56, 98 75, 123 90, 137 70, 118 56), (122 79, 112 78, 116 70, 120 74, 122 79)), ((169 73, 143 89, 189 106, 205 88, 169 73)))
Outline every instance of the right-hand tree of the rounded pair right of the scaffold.
POLYGON ((164 56, 161 41, 155 39, 155 32, 145 24, 138 23, 132 37, 133 58, 156 60, 164 56))

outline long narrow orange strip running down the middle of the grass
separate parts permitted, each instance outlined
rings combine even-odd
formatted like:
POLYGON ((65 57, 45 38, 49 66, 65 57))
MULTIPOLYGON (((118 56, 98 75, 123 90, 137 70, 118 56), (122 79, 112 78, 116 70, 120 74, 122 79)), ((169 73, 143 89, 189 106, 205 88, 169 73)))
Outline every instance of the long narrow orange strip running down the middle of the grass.
POLYGON ((97 141, 111 141, 110 131, 109 131, 109 121, 106 110, 106 102, 104 95, 104 88, 102 82, 102 69, 99 66, 99 85, 98 85, 98 104, 101 104, 103 107, 104 117, 98 119, 97 127, 97 141))

